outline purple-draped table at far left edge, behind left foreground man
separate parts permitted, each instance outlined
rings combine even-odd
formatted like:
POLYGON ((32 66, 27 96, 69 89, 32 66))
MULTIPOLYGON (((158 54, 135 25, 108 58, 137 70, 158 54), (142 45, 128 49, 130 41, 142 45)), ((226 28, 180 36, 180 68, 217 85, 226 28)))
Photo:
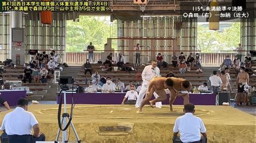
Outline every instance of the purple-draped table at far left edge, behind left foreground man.
POLYGON ((26 98, 26 90, 0 90, 1 97, 8 102, 10 106, 16 106, 18 99, 26 98))

